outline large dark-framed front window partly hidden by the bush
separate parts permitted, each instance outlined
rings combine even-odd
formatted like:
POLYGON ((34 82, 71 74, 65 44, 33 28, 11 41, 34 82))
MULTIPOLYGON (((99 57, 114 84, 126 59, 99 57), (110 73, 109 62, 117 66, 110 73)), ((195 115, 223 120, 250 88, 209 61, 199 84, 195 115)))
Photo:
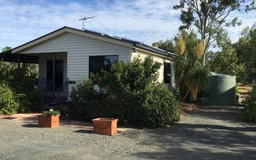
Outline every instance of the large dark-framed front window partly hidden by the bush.
POLYGON ((90 73, 101 73, 101 70, 110 71, 111 64, 118 61, 118 55, 96 55, 89 56, 89 77, 90 73))

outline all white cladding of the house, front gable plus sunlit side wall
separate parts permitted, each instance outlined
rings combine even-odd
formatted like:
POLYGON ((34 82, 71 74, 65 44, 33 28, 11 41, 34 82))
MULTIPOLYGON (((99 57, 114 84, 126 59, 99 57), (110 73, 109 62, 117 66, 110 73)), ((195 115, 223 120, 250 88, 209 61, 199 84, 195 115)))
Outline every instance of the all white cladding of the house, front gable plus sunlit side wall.
MULTIPOLYGON (((52 53, 56 53, 56 60, 63 60, 63 81, 68 78, 69 81, 77 82, 83 77, 88 78, 89 56, 118 55, 119 61, 127 62, 132 61, 134 57, 139 55, 142 59, 148 55, 152 55, 155 61, 172 63, 172 58, 146 50, 136 48, 136 52, 134 53, 132 52, 133 45, 130 43, 68 28, 53 33, 53 36, 47 35, 47 37, 31 42, 31 44, 28 43, 13 51, 15 54, 34 54, 39 56, 39 78, 42 79, 47 78, 47 60, 52 60, 52 53)), ((158 80, 159 82, 163 82, 164 80, 163 65, 159 69, 158 80)), ((69 92, 71 92, 72 85, 69 84, 69 92)), ((175 88, 173 71, 171 83, 166 85, 170 89, 175 88)))

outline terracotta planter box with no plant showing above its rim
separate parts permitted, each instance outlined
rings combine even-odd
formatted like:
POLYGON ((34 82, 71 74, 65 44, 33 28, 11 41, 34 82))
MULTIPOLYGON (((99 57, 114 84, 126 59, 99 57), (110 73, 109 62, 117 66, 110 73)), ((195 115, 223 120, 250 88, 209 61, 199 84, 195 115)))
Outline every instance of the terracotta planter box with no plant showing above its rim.
POLYGON ((113 135, 116 134, 118 119, 96 118, 93 119, 93 131, 98 134, 113 135))

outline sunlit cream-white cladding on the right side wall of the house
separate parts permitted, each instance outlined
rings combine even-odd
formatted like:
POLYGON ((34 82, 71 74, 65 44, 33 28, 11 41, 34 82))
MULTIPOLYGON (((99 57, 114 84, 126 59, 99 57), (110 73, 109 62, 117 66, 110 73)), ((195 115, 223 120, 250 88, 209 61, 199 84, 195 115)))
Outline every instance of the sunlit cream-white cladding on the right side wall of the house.
POLYGON ((131 60, 135 57, 139 57, 142 60, 144 60, 147 56, 151 55, 153 57, 153 60, 156 62, 160 62, 163 65, 159 69, 159 82, 164 82, 164 62, 171 63, 171 81, 169 84, 166 84, 169 89, 175 89, 175 80, 174 80, 174 70, 173 70, 173 60, 172 58, 160 56, 157 54, 153 54, 147 51, 142 51, 140 49, 136 49, 135 52, 132 52, 131 60))

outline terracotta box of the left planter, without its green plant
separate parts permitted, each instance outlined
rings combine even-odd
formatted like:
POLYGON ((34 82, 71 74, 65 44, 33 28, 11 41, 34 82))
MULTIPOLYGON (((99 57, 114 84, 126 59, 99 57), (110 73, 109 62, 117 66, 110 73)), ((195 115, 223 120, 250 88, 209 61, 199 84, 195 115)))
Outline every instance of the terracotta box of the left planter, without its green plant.
POLYGON ((37 115, 37 116, 38 116, 39 127, 48 127, 48 128, 59 127, 60 115, 50 115, 47 117, 44 117, 42 115, 37 115))

